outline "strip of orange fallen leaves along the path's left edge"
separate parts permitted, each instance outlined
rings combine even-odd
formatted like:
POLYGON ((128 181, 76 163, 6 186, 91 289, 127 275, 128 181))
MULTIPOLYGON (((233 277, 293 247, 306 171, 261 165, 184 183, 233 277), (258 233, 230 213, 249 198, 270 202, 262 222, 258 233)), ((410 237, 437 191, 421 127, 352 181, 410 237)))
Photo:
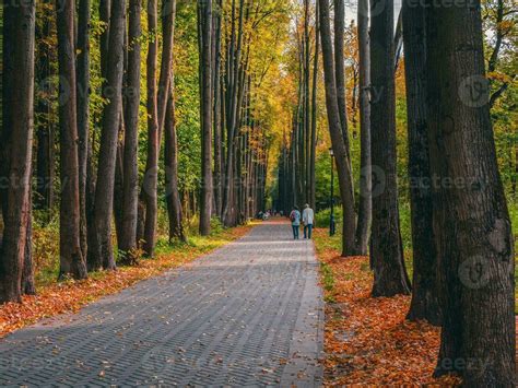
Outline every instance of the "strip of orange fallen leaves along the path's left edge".
POLYGON ((91 274, 84 281, 66 281, 38 287, 38 294, 24 296, 22 304, 8 303, 0 306, 0 338, 44 318, 76 313, 105 295, 115 294, 141 280, 187 264, 244 236, 249 230, 249 226, 226 230, 197 246, 185 245, 168 254, 158 255, 155 259, 142 260, 138 267, 121 267, 117 271, 91 274))

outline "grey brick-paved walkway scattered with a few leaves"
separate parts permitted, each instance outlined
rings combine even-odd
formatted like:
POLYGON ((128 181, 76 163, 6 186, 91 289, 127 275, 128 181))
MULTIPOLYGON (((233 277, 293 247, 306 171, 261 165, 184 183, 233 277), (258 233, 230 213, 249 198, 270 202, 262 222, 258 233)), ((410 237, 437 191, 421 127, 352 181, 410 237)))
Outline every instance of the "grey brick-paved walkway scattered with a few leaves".
POLYGON ((267 223, 80 314, 0 341, 0 386, 319 386, 310 242, 267 223))

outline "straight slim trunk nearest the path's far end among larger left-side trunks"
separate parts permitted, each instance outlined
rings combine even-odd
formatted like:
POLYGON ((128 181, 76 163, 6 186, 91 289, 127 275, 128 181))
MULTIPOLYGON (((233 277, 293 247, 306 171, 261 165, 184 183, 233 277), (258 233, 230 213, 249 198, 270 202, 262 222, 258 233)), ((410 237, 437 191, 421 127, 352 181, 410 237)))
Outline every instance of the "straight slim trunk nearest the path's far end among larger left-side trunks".
POLYGON ((212 0, 199 0, 201 19, 201 207, 200 234, 211 232, 212 215, 212 0))

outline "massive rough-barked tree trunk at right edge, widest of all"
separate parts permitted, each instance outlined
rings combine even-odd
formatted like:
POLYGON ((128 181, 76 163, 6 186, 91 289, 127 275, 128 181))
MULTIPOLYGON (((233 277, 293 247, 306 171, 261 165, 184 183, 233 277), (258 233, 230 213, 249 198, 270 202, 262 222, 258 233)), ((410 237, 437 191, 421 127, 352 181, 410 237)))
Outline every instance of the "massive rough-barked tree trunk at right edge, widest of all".
MULTIPOLYGON (((427 3, 426 3, 427 4, 427 3)), ((498 174, 480 2, 426 8, 428 144, 443 332, 437 375, 516 385, 515 256, 498 174), (462 365, 449 361, 466 361, 462 365)))

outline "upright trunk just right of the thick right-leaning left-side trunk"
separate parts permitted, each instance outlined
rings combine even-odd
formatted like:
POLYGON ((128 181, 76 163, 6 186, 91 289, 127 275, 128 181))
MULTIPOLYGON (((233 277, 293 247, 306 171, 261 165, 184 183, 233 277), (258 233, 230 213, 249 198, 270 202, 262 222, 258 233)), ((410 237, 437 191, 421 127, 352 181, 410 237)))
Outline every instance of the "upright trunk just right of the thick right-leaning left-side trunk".
POLYGON ((122 220, 119 236, 119 250, 122 262, 134 262, 137 249, 137 220, 139 202, 139 108, 140 108, 140 67, 141 67, 141 0, 130 0, 128 27, 128 73, 125 104, 125 155, 122 220))

